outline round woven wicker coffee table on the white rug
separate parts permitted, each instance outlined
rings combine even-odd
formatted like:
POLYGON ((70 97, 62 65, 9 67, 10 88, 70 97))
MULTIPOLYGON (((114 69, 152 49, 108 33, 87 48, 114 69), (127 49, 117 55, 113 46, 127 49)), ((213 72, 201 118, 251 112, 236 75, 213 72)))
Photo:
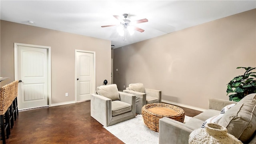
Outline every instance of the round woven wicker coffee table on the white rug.
POLYGON ((163 117, 171 118, 183 122, 185 115, 184 110, 171 104, 146 104, 142 107, 142 117, 144 123, 150 130, 159 132, 159 119, 163 117))

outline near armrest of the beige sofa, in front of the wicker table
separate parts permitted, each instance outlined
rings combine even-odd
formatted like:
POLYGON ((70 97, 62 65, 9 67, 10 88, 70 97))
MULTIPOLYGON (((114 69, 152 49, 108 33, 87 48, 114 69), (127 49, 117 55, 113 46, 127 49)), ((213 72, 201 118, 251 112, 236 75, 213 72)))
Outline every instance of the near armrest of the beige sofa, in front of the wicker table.
POLYGON ((192 131, 182 122, 161 118, 159 120, 159 144, 188 144, 188 136, 192 131))

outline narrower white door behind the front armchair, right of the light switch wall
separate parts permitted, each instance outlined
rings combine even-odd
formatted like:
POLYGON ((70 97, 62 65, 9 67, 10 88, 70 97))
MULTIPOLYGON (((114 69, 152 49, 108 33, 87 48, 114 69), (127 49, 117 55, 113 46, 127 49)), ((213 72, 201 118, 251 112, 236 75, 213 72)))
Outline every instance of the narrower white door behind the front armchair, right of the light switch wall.
POLYGON ((90 100, 94 85, 94 53, 76 52, 76 100, 90 100))

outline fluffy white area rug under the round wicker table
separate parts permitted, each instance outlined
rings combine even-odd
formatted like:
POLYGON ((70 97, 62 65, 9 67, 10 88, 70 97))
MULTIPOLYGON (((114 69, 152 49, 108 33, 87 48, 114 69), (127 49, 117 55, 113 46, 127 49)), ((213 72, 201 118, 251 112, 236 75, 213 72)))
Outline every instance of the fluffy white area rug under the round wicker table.
MULTIPOLYGON (((185 116, 184 123, 191 117, 185 116)), ((150 130, 143 121, 142 115, 105 127, 109 132, 126 144, 158 144, 158 132, 150 130)))

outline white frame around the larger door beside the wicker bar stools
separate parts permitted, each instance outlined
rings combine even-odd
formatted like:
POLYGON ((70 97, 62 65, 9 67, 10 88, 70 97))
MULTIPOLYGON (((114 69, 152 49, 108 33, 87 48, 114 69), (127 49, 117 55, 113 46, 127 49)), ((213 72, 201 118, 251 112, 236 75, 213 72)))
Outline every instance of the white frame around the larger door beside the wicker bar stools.
POLYGON ((44 48, 47 50, 47 65, 48 65, 48 70, 47 70, 47 75, 48 75, 48 103, 49 107, 51 106, 52 103, 52 82, 51 82, 51 47, 50 46, 39 46, 39 45, 34 45, 34 44, 21 44, 21 43, 16 43, 14 42, 14 80, 18 80, 18 46, 27 46, 27 47, 36 47, 36 48, 44 48))

